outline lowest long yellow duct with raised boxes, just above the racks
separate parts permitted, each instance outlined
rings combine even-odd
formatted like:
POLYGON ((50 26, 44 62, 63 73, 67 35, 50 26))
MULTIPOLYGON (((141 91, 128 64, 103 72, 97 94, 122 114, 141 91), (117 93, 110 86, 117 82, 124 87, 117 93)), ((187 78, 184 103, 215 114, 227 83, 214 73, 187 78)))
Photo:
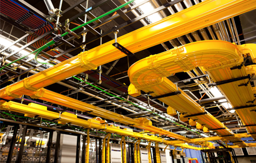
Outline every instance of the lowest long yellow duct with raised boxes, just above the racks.
MULTIPOLYGON (((101 129, 106 131, 106 133, 117 133, 124 136, 131 136, 131 137, 137 137, 140 139, 146 139, 148 141, 155 141, 155 142, 163 142, 164 144, 171 144, 170 141, 166 141, 160 137, 157 136, 148 136, 147 134, 140 134, 135 133, 132 131, 132 129, 120 129, 117 126, 114 125, 107 125, 105 124, 106 121, 103 121, 101 118, 92 118, 89 120, 79 119, 77 118, 76 114, 72 113, 55 113, 52 111, 48 111, 46 106, 37 105, 34 103, 31 103, 29 105, 24 105, 21 103, 16 103, 14 101, 9 101, 1 104, 1 108, 4 110, 9 111, 15 111, 17 113, 23 113, 27 114, 29 116, 39 116, 41 118, 47 118, 47 119, 57 119, 58 123, 60 124, 74 124, 77 126, 82 126, 84 128, 94 128, 94 129, 101 129)), ((144 125, 144 122, 141 122, 142 126, 144 125)), ((146 123, 146 122, 145 122, 146 123)), ((148 124, 150 125, 150 124, 148 124)), ((189 139, 187 139, 189 141, 189 139)), ((194 147, 193 147, 194 148, 194 147)), ((199 149, 199 148, 197 148, 199 149)))

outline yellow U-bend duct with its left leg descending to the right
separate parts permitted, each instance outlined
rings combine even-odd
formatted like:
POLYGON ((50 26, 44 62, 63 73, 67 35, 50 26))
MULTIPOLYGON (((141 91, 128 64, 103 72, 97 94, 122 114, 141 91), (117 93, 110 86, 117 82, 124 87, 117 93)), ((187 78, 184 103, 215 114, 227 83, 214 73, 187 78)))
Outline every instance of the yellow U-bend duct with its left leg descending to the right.
MULTIPOLYGON (((207 67, 205 67, 207 69, 217 66, 215 65, 218 62, 217 60, 222 59, 222 57, 220 58, 217 58, 217 56, 214 57, 215 60, 213 62, 212 60, 205 58, 209 54, 205 56, 202 54, 204 54, 204 47, 205 47, 205 50, 207 50, 207 52, 211 52, 210 50, 211 47, 222 47, 222 46, 225 46, 228 49, 228 50, 222 51, 223 55, 225 53, 229 54, 229 56, 227 56, 226 54, 224 55, 229 57, 229 58, 226 58, 226 60, 233 60, 233 59, 237 60, 237 62, 227 64, 227 66, 237 65, 242 62, 241 58, 240 60, 238 59, 239 55, 237 55, 237 47, 235 47, 233 44, 228 44, 227 42, 216 41, 216 40, 202 41, 199 44, 192 43, 192 44, 187 44, 180 47, 179 49, 177 49, 177 52, 179 52, 178 54, 176 53, 176 50, 169 50, 169 52, 164 52, 159 55, 152 55, 151 57, 147 57, 144 60, 140 60, 139 62, 135 63, 134 65, 132 65, 132 67, 129 68, 128 74, 130 77, 130 82, 133 85, 135 85, 135 87, 139 90, 143 90, 145 92, 153 91, 154 93, 151 94, 152 96, 159 96, 162 93, 166 94, 168 93, 168 91, 169 92, 177 91, 176 86, 171 81, 167 80, 167 78, 162 78, 162 77, 168 77, 170 73, 177 73, 180 71, 191 70, 195 67, 201 67, 202 65, 205 65, 205 64, 207 64, 207 67), (207 45, 210 45, 210 46, 207 46, 207 45), (190 52, 192 52, 193 55, 190 55, 190 52), (169 55, 168 59, 165 58, 164 57, 165 54, 169 54, 169 53, 172 55, 169 55), (201 55, 197 55, 197 54, 201 54, 201 55), (189 60, 189 62, 186 61, 186 66, 183 65, 185 61, 179 59, 179 58, 183 58, 182 56, 186 56, 187 61, 189 60), (202 58, 200 58, 199 56, 202 58), (147 66, 150 66, 149 61, 151 60, 151 58, 154 58, 153 59, 154 62, 152 63, 154 63, 155 66, 159 65, 161 67, 161 68, 159 67, 161 70, 155 69, 157 68, 155 66, 151 70, 147 68, 147 66), (193 60, 190 60, 192 58, 193 60), (199 59, 200 62, 197 62, 196 61, 197 59, 199 59), (155 70, 155 71, 152 71, 152 70, 155 70), (161 73, 159 75, 155 72, 161 72, 161 73), (142 75, 144 74, 147 74, 147 75, 145 75, 145 77, 142 77, 142 75), (149 78, 150 80, 147 80, 147 78, 149 78), (140 83, 143 83, 143 85, 137 82, 139 80, 140 80, 140 83)), ((179 89, 179 91, 181 90, 179 89)), ((197 114, 197 113, 202 113, 204 111, 204 109, 200 108, 199 105, 196 105, 194 100, 191 100, 190 97, 187 96, 187 94, 185 94, 183 91, 181 92, 182 94, 180 95, 169 96, 167 98, 160 98, 160 101, 171 106, 177 111, 180 111, 180 113, 197 114), (184 109, 184 108, 189 108, 189 109, 184 109)), ((210 116, 207 117, 207 116, 209 116, 209 114, 207 114, 206 116, 204 115, 197 116, 195 119, 198 119, 200 124, 206 123, 205 126, 207 128, 216 128, 218 125, 222 126, 222 124, 220 124, 220 122, 217 119, 215 119, 214 117, 210 117, 210 116), (207 123, 206 121, 209 123, 207 123), (212 125, 217 125, 217 126, 213 127, 212 125)), ((222 131, 219 131, 219 132, 218 132, 219 134, 222 134, 222 135, 225 134, 225 131, 223 131, 223 133, 222 131)), ((230 134, 228 129, 226 134, 230 134)))

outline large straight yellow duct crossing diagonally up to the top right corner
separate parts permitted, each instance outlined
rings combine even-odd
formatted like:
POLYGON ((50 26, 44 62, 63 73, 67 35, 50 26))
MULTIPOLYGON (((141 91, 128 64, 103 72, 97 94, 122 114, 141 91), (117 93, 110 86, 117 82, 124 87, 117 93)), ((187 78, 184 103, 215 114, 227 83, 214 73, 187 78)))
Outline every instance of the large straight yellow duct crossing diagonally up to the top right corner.
MULTIPOLYGON (((170 39, 174 39, 184 34, 215 24, 230 17, 240 15, 244 12, 255 9, 254 0, 209 0, 189 7, 172 16, 142 27, 119 37, 119 43, 131 52, 139 52, 154 45, 160 44, 170 39), (182 29, 182 30, 180 30, 182 29)), ((102 44, 94 49, 83 52, 76 57, 47 68, 43 72, 37 73, 11 85, 8 89, 0 90, 0 97, 12 100, 17 96, 31 95, 35 90, 51 85, 57 81, 77 73, 92 70, 99 65, 111 62, 121 57, 125 57, 121 51, 112 44, 114 40, 102 44), (24 87, 26 89, 24 89, 24 87)))

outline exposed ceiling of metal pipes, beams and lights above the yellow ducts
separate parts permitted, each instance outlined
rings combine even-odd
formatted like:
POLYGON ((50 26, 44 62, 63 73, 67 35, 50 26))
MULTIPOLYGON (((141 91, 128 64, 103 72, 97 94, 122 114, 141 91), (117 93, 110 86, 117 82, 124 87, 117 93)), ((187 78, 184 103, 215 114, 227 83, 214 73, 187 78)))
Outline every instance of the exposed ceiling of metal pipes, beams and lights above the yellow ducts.
MULTIPOLYGON (((111 11, 117 6, 121 6, 126 1, 64 0, 61 6, 62 16, 59 18, 62 27, 57 31, 54 31, 55 21, 46 21, 46 18, 49 17, 49 13, 44 1, 10 0, 0 2, 4 5, 4 7, 1 7, 0 9, 1 62, 3 64, 5 61, 6 65, 17 58, 38 49, 47 42, 50 42, 57 34, 64 34, 66 32, 66 27, 64 27, 64 25, 67 19, 70 20, 69 29, 73 29, 84 24, 84 22, 91 21, 98 16, 106 14, 106 12, 111 11), (92 8, 90 9, 91 6, 92 8), (89 9, 89 12, 86 12, 86 9, 89 9), (84 16, 84 12, 87 13, 86 16, 84 16), (16 40, 18 40, 17 44, 12 45, 12 47, 9 47, 4 51, 2 50, 16 40)), ((54 45, 47 47, 47 49, 43 50, 39 55, 39 62, 49 62, 56 65, 69 58, 77 56, 82 51, 91 50, 101 44, 113 40, 115 38, 113 27, 115 26, 119 29, 117 34, 118 42, 118 37, 121 37, 122 35, 126 35, 129 32, 160 21, 160 19, 164 19, 164 17, 202 3, 201 0, 184 0, 179 1, 178 3, 176 3, 177 1, 174 1, 174 5, 164 7, 162 4, 163 2, 164 1, 160 0, 146 2, 136 0, 119 11, 107 14, 107 16, 102 17, 98 21, 92 22, 89 26, 76 30, 75 33, 80 35, 79 39, 72 34, 68 34, 64 36, 60 42, 56 42, 54 45), (142 5, 139 6, 140 2, 142 2, 142 5), (124 12, 131 8, 135 9, 130 12, 124 12)), ((172 3, 172 1, 170 1, 170 3, 172 3)), ((53 1, 53 4, 54 7, 59 7, 59 1, 53 1)), ((90 85, 71 77, 44 88, 99 108, 122 114, 129 118, 150 119, 153 126, 188 138, 216 136, 217 134, 215 132, 204 133, 202 129, 200 130, 195 128, 195 126, 190 126, 189 121, 187 120, 180 121, 181 114, 179 111, 170 116, 167 114, 168 106, 162 101, 152 98, 152 96, 149 95, 149 92, 142 91, 141 95, 137 97, 128 95, 128 86, 130 85, 128 70, 132 64, 145 57, 160 54, 167 50, 174 49, 175 47, 179 47, 180 45, 186 45, 200 40, 225 40, 227 42, 235 42, 239 45, 251 43, 252 39, 254 39, 251 36, 253 35, 253 32, 255 32, 255 24, 249 24, 249 22, 255 21, 250 20, 253 19, 249 17, 250 12, 182 35, 175 39, 168 40, 167 42, 162 42, 162 44, 140 50, 139 52, 135 52, 134 55, 128 55, 127 57, 122 57, 112 62, 105 63, 96 70, 87 70, 76 75, 77 78, 86 80, 90 85), (247 17, 247 19, 244 17, 247 17), (140 107, 131 105, 131 103, 139 105, 140 107), (150 112, 147 109, 152 111, 150 112), (166 118, 171 120, 169 121, 166 118)), ((13 63, 9 67, 5 67, 0 76, 1 88, 6 88, 6 86, 11 85, 12 83, 31 77, 36 73, 52 67, 52 65, 39 62, 34 59, 34 55, 29 55, 28 57, 13 63)), ((177 83, 177 86, 181 90, 185 91, 190 98, 199 103, 200 106, 203 106, 206 111, 212 114, 221 123, 224 123, 231 131, 236 134, 247 133, 247 129, 242 126, 243 124, 239 115, 234 109, 229 109, 232 108, 232 105, 227 102, 219 88, 217 88, 217 86, 208 86, 212 80, 202 68, 197 67, 189 72, 175 73, 167 78, 170 81, 177 83)), ((254 81, 251 81, 250 84, 254 85, 254 81)), ((70 113, 76 113, 81 119, 91 119, 96 117, 96 115, 91 114, 90 111, 79 111, 66 106, 56 105, 56 103, 50 103, 49 101, 33 99, 27 95, 23 95, 21 98, 15 98, 12 101, 18 103, 22 102, 24 104, 31 102, 39 103, 47 106, 47 109, 50 111, 65 109, 70 113)), ((20 115, 15 112, 12 114, 20 115)), ((11 119, 9 116, 5 116, 5 118, 11 119)), ((114 123, 116 125, 121 125, 122 127, 132 128, 134 131, 142 132, 142 129, 134 128, 124 123, 114 122, 111 121, 111 119, 104 119, 109 123, 114 123)), ((19 118, 19 121, 26 121, 26 119, 19 118)), ((34 123, 37 124, 38 121, 35 121, 34 123)), ((53 125, 52 127, 65 128, 57 125, 53 125)))

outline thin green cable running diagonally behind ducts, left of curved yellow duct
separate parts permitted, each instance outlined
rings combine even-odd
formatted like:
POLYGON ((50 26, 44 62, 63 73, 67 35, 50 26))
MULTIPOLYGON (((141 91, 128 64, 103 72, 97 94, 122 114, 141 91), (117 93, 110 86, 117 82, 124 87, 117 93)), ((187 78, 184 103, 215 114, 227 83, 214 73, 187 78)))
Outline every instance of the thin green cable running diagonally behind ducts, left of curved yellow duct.
MULTIPOLYGON (((77 78, 77 77, 74 77, 74 76, 73 76, 73 78, 76 78, 77 80, 84 82, 84 80, 81 80, 80 78, 77 78)), ((128 103, 130 103, 130 104, 132 104, 132 105, 134 105, 134 106, 137 106, 137 107, 140 108, 140 109, 144 109, 144 110, 146 110, 146 111, 149 111, 150 113, 155 114, 156 116, 159 116, 160 118, 162 118, 159 114, 154 113, 153 111, 150 111, 149 109, 142 108, 142 107, 140 107, 139 105, 136 105, 135 103, 132 103, 132 102, 130 102, 130 101, 124 99, 124 98, 121 98, 121 97, 119 97, 119 96, 112 95, 111 93, 108 93, 107 91, 104 91, 104 90, 102 90, 101 88, 99 88, 99 87, 97 87, 97 86, 95 86, 95 85, 92 85, 91 83, 88 83, 88 82, 85 82, 85 83, 87 83, 87 84, 90 85, 90 86, 93 86, 94 88, 97 88, 98 90, 103 91, 103 92, 106 93, 107 95, 114 96, 114 97, 116 97, 116 98, 119 98, 120 100, 127 101, 128 103)), ((175 124, 177 124, 178 126, 182 126, 182 127, 186 128, 186 129, 188 129, 189 131, 192 131, 191 129, 187 128, 186 126, 184 126, 184 125, 182 125, 182 124, 178 124, 178 123, 176 123, 175 121, 172 121, 172 120, 167 119, 167 118, 164 118, 164 119, 165 119, 165 120, 168 120, 168 121, 171 121, 172 123, 175 123, 175 124)), ((197 134, 200 135, 200 133, 198 133, 197 131, 192 131, 192 132, 197 133, 197 134)))

